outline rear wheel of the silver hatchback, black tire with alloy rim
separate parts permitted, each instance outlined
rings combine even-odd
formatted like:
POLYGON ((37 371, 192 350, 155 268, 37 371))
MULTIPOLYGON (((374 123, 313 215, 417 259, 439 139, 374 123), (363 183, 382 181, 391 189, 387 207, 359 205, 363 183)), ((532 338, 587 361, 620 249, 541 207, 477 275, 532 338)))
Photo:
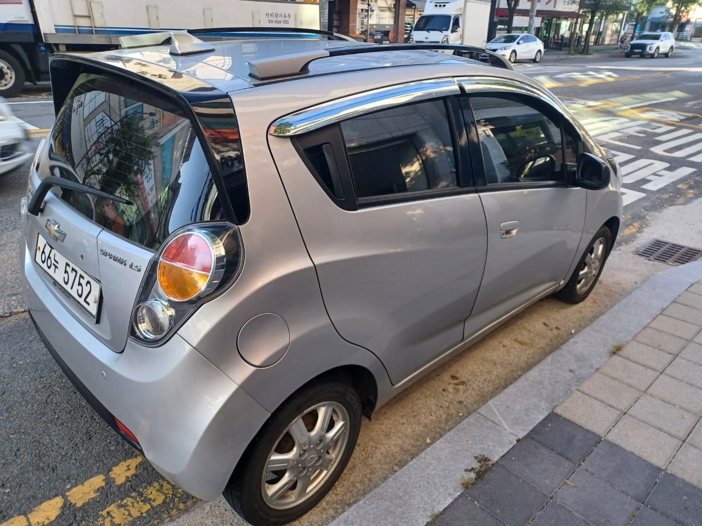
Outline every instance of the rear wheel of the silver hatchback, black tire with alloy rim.
POLYGON ((253 526, 284 525, 300 518, 343 473, 360 427, 361 402, 355 389, 342 377, 313 380, 282 403, 251 441, 224 490, 225 499, 253 526), (324 432, 315 429, 323 414, 331 414, 324 432), (342 430, 345 433, 338 434, 342 430), (287 466, 267 469, 274 454, 287 466), (324 464, 329 470, 315 467, 324 464), (296 496, 304 487, 302 480, 309 493, 296 496), (276 495, 277 490, 281 491, 276 495))

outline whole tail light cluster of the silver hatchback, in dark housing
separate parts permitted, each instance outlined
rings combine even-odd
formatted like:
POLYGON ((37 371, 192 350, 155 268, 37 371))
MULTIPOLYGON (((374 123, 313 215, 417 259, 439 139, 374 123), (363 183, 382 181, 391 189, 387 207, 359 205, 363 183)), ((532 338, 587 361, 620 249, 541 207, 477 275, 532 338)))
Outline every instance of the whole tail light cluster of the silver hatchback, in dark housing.
POLYGON ((161 245, 145 273, 131 337, 159 344, 239 274, 241 239, 229 223, 195 224, 161 245))

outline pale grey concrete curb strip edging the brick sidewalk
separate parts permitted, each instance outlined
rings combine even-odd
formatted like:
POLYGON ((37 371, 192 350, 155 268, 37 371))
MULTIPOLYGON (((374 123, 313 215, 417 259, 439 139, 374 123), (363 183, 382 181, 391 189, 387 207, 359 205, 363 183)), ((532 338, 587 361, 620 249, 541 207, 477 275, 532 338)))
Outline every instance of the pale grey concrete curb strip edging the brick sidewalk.
POLYGON ((582 332, 351 506, 333 526, 425 525, 463 492, 468 468, 499 459, 692 283, 702 260, 652 276, 582 332), (477 458, 476 458, 477 457, 477 458))

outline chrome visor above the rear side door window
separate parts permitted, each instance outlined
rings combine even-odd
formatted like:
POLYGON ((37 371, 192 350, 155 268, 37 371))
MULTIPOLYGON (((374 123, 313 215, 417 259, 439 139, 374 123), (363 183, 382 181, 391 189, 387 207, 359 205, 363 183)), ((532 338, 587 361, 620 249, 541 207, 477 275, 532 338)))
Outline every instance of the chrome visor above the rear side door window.
POLYGON ((272 124, 269 133, 277 137, 291 137, 399 104, 409 104, 418 100, 458 95, 459 93, 461 93, 461 88, 458 88, 453 79, 418 81, 380 88, 324 102, 324 104, 284 116, 272 124))

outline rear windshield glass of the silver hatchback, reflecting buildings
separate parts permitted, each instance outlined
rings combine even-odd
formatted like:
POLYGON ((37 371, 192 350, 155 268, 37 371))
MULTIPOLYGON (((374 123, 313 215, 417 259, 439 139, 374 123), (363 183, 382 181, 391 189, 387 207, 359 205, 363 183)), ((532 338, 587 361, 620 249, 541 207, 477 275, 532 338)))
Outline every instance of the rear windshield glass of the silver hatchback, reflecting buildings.
POLYGON ((47 157, 40 177, 58 175, 130 201, 53 189, 88 219, 146 248, 186 224, 223 218, 190 119, 171 100, 124 79, 78 77, 47 157))

